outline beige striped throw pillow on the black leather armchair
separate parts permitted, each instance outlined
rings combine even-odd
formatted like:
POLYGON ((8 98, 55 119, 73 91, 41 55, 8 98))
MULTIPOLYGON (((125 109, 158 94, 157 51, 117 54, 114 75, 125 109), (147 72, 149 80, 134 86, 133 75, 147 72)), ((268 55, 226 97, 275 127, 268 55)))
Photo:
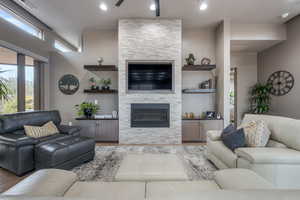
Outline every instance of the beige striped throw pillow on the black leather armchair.
POLYGON ((41 138, 59 133, 52 121, 43 126, 24 126, 24 130, 27 136, 33 138, 41 138))

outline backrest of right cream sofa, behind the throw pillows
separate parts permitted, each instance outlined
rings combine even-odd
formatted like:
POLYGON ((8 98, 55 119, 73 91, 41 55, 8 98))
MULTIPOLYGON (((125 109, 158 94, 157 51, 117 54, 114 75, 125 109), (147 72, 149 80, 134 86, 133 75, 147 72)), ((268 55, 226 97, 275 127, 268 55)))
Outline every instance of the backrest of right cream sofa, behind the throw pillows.
POLYGON ((245 115, 243 123, 264 120, 271 131, 271 139, 300 151, 300 120, 271 115, 245 115))

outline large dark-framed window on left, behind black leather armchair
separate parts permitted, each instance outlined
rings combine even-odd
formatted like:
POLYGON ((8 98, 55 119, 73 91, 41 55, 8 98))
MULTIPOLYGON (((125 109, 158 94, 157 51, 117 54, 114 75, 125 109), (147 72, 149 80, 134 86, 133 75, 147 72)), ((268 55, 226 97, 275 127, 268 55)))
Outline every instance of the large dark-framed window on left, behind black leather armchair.
POLYGON ((0 47, 0 81, 9 90, 7 99, 0 99, 0 114, 43 109, 43 63, 7 48, 0 47))

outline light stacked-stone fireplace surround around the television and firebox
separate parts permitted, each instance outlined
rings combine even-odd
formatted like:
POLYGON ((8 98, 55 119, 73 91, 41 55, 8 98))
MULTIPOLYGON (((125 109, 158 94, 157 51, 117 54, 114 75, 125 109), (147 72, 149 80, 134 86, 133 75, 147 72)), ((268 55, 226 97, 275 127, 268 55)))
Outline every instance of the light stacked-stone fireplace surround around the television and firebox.
POLYGON ((181 136, 181 20, 119 20, 119 143, 180 144, 181 136), (127 91, 127 63, 134 61, 174 63, 173 91, 127 91), (170 127, 131 127, 132 104, 169 104, 170 127))

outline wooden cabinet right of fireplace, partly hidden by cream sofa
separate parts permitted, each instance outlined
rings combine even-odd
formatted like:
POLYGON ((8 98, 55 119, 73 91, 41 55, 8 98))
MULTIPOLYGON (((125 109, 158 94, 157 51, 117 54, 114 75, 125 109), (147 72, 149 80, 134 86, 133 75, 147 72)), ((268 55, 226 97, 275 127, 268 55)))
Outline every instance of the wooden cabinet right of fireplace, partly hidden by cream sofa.
POLYGON ((183 142, 206 142, 206 132, 209 130, 222 130, 223 120, 182 120, 183 142))

